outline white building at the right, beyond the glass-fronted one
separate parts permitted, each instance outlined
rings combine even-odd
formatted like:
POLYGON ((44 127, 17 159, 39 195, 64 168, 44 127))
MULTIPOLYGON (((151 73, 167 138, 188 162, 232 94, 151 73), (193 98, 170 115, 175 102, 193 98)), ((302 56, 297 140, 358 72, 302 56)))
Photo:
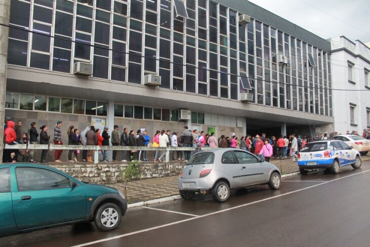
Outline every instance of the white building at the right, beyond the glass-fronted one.
POLYGON ((370 128, 370 48, 344 36, 331 42, 335 130, 345 133, 370 128), (360 91, 361 90, 361 91, 360 91))

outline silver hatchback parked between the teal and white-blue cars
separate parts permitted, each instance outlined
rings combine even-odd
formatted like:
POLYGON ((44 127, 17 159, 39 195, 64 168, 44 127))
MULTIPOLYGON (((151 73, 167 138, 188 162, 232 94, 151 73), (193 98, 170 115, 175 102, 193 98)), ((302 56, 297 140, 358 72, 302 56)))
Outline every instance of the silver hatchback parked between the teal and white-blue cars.
POLYGON ((230 189, 268 184, 280 188, 280 170, 254 154, 222 148, 196 153, 181 170, 178 188, 182 198, 211 192, 217 202, 227 201, 230 189))

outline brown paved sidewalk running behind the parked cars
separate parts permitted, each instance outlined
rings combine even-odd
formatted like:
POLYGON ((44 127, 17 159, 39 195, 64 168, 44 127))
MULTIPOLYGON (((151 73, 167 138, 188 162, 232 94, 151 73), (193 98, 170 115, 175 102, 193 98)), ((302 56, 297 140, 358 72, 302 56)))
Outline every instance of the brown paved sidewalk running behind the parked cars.
MULTIPOLYGON (((370 155, 362 157, 362 161, 370 160, 370 155)), ((279 160, 272 159, 271 163, 275 164, 283 174, 299 171, 297 162, 291 162, 291 158, 279 160)), ((178 195, 177 188, 178 175, 135 180, 127 184, 128 203, 159 199, 163 197, 178 195)), ((124 190, 124 183, 107 184, 121 191, 124 190)))

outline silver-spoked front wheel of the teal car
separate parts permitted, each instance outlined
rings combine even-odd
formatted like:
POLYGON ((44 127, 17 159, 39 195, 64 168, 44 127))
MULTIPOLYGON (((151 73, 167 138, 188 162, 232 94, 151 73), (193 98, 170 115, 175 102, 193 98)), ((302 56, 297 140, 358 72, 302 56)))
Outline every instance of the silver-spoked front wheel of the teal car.
POLYGON ((104 203, 95 211, 94 222, 101 231, 112 231, 120 226, 122 213, 115 203, 104 203))

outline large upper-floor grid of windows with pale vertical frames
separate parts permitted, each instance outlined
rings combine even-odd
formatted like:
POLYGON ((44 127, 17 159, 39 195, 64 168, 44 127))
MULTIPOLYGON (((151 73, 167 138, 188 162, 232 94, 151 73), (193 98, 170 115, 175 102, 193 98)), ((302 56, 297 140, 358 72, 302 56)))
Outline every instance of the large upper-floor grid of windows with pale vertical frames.
POLYGON ((255 104, 332 116, 327 51, 243 14, 233 1, 12 0, 8 63, 73 74, 88 62, 94 78, 157 74, 162 88, 228 100, 246 74, 255 104))

